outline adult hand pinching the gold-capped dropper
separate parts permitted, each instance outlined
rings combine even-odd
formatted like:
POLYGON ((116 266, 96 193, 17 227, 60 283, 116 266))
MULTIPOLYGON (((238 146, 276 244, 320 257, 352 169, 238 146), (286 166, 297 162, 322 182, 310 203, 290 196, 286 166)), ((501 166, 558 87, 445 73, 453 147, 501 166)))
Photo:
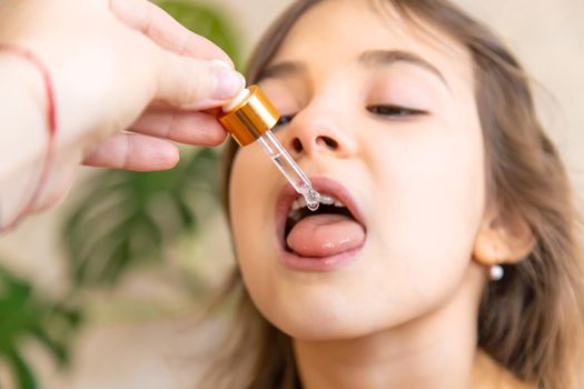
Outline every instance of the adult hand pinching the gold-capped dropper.
MULTIPOLYGON (((172 141, 221 143, 225 130, 204 110, 245 87, 222 50, 147 0, 4 0, 0 42, 26 47, 46 63, 56 93, 59 160, 68 152, 89 166, 168 169, 178 162, 172 141)), ((34 101, 46 103, 32 72, 21 76, 34 86, 34 101)), ((70 164, 57 170, 43 206, 70 181, 70 164)))

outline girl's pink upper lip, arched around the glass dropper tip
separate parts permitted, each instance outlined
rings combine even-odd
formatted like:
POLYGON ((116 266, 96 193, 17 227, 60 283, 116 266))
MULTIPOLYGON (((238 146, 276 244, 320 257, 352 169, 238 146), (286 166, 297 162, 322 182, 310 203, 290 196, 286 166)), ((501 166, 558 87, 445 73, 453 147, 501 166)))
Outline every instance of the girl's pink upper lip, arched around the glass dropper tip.
MULTIPOLYGON (((365 228, 365 222, 363 219, 363 213, 360 212, 357 203, 347 188, 345 188, 340 182, 328 177, 310 177, 310 182, 313 183, 313 189, 318 191, 320 194, 329 194, 338 199, 340 202, 347 207, 349 212, 353 215, 355 220, 365 228)), ((276 202, 276 226, 277 235, 280 239, 280 242, 284 245, 284 229, 286 226, 286 219, 290 212, 291 205, 294 200, 300 197, 294 188, 287 183, 278 196, 276 202)))

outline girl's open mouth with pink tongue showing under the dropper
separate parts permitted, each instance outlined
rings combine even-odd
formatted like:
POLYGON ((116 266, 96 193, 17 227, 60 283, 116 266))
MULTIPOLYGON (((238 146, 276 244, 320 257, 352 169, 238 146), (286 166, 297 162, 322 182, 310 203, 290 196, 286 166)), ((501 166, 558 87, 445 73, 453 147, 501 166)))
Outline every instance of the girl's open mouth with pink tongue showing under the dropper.
POLYGON ((347 189, 328 178, 313 179, 320 192, 318 210, 310 211, 303 197, 283 190, 278 201, 278 235, 286 253, 323 259, 363 247, 363 218, 347 189))

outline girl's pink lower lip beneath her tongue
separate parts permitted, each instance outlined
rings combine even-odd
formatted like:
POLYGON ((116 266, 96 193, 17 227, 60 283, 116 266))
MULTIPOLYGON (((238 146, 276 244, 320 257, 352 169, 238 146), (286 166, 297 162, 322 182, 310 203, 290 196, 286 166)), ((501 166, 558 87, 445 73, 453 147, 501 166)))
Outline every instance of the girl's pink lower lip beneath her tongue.
POLYGON ((363 247, 337 253, 330 257, 309 258, 294 252, 281 250, 284 266, 290 270, 325 272, 343 268, 354 262, 360 255, 363 247))

